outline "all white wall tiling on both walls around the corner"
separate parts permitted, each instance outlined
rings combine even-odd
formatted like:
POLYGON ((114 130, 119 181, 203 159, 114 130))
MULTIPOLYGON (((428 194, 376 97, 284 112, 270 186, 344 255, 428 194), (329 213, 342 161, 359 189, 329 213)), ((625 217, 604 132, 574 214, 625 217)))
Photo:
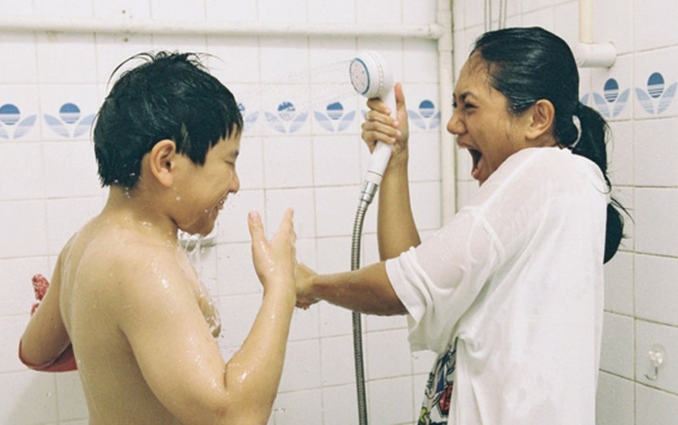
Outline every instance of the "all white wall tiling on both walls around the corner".
MULTIPOLYGON (((496 28, 499 0, 493 1, 496 28)), ((453 1, 455 72, 484 28, 484 2, 453 1)), ((0 0, 3 10, 40 17, 261 23, 387 23, 435 21, 433 0, 77 0, 68 8, 53 0, 0 0)), ((602 93, 615 79, 628 101, 607 105, 614 142, 610 173, 615 194, 633 215, 622 252, 606 266, 606 314, 597 422, 601 425, 672 424, 678 415, 678 3, 673 0, 597 1, 595 41, 617 46, 609 70, 582 70, 582 96, 602 93), (664 91, 650 101, 648 79, 661 74, 664 91), (640 93, 642 92, 642 93, 640 93), (617 114, 611 116, 617 107, 617 114), (659 110, 661 109, 661 112, 659 110), (656 380, 648 350, 663 344, 666 364, 656 380), (671 422, 673 421, 673 422, 671 422)), ((509 0, 508 25, 543 25, 577 41, 576 0, 509 0)), ((359 140, 358 99, 338 72, 357 50, 379 50, 404 82, 411 110, 414 211, 424 234, 440 226, 440 123, 421 119, 421 101, 438 99, 435 41, 355 37, 218 37, 150 34, 23 33, 0 30, 0 107, 20 111, 13 125, 0 120, 0 423, 86 424, 86 408, 74 373, 50 375, 23 369, 15 347, 32 302, 30 276, 51 272, 61 245, 105 200, 97 185, 88 133, 76 123, 60 135, 45 116, 59 119, 64 103, 78 105, 83 119, 96 112, 112 69, 143 50, 198 50, 214 74, 245 106, 249 123, 239 162, 242 189, 227 205, 217 229, 218 245, 196 257, 196 267, 217 298, 224 319, 225 357, 245 338, 260 300, 249 259, 247 211, 258 209, 269 229, 287 206, 296 209, 298 255, 321 271, 349 267, 350 233, 357 188, 367 164, 359 140), (267 125, 283 101, 296 114, 309 113, 294 132, 267 125), (356 116, 341 132, 329 132, 313 116, 339 101, 356 116), (32 118, 33 117, 33 118, 32 118), (420 118, 417 121, 416 118, 420 118), (28 125, 34 119, 33 125, 28 125), (416 121, 416 122, 415 122, 416 121), (25 126, 21 133, 21 123, 25 126), (420 126, 417 125, 420 124, 420 126), (4 136, 3 136, 4 135, 4 136), (433 166, 432 166, 433 165, 433 166), (425 202, 424 202, 425 201, 425 202)), ((656 79, 656 77, 655 77, 656 79)), ((475 191, 464 152, 457 156, 458 205, 475 191)), ((376 203, 365 220, 363 262, 376 260, 376 203)), ((418 412, 431 353, 409 355, 402 318, 363 318, 370 419, 374 424, 410 424, 418 412), (389 351, 384 351, 389 346, 389 351), (392 347, 397 349, 392 350, 392 347), (386 358, 384 358, 386 357, 386 358)), ((272 424, 345 425, 358 422, 351 315, 320 304, 298 311, 272 424)))

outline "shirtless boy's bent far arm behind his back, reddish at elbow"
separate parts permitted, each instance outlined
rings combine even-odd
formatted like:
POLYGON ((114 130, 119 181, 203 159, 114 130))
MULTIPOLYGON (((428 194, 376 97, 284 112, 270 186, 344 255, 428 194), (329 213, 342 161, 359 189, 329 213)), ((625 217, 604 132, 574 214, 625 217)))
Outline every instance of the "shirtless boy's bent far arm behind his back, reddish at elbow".
POLYGON ((37 371, 76 369, 70 339, 59 309, 60 274, 61 257, 56 262, 52 283, 49 284, 47 280, 37 282, 47 284, 50 290, 44 294, 39 308, 36 309, 34 305, 34 314, 19 341, 19 360, 37 371))

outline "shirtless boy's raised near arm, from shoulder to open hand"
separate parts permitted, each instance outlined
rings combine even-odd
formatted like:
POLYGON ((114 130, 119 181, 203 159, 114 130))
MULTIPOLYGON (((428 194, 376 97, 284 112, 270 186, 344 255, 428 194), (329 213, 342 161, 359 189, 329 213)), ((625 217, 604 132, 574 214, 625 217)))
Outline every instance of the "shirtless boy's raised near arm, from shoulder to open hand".
POLYGON ((123 282, 116 301, 125 307, 116 309, 121 331, 147 384, 184 424, 265 424, 271 413, 294 310, 295 236, 291 213, 271 242, 258 216, 249 218, 249 226, 263 301, 249 336, 229 362, 174 258, 156 256, 154 265, 140 258, 130 276, 136 275, 137 284, 123 282))

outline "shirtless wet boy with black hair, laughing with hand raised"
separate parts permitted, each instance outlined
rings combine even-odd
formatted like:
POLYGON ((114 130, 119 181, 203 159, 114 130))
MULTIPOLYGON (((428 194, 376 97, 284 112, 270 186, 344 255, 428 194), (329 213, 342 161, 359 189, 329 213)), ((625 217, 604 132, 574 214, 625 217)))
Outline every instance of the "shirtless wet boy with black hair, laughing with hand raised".
POLYGON ((292 212, 271 240, 249 214, 263 300, 225 362, 218 315, 177 231, 209 234, 238 190, 243 120, 198 56, 136 59, 145 61, 114 84, 94 128, 107 203, 61 251, 21 360, 49 369, 72 347, 90 425, 265 424, 296 300, 292 212))

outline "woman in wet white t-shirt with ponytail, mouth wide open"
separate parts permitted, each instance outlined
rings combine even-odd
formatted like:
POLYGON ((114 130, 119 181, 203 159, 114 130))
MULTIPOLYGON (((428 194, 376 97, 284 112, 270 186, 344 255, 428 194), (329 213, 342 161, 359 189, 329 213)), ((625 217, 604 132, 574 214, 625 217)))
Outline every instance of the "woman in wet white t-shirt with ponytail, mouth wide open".
POLYGON ((510 28, 476 41, 447 129, 469 150, 480 189, 423 243, 402 89, 396 120, 368 101, 362 138, 393 145, 380 189, 382 262, 325 276, 302 269, 298 305, 407 313, 412 348, 439 354, 420 424, 595 423, 603 263, 622 219, 608 198, 607 126, 578 87, 555 34, 510 28))

